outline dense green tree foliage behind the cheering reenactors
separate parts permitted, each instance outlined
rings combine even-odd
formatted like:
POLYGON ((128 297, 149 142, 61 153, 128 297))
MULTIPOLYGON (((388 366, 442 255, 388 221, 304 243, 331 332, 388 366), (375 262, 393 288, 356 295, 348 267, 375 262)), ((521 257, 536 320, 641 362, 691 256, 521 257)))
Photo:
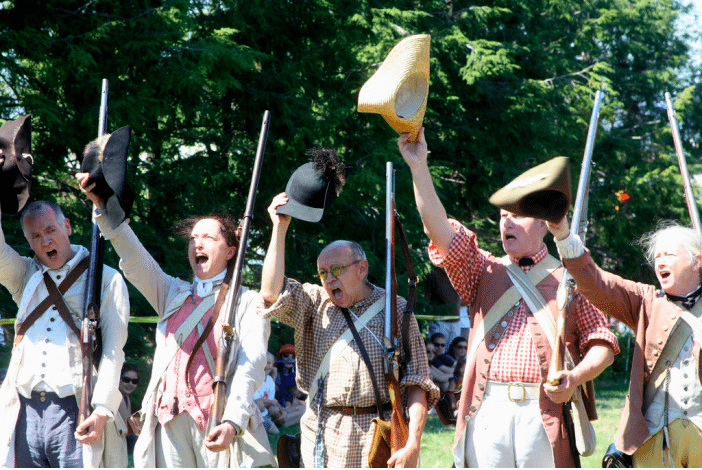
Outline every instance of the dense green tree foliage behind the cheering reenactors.
MULTIPOLYGON (((320 248, 345 238, 364 246, 371 280, 382 284, 384 163, 393 161, 423 277, 427 239, 396 135, 379 116, 357 113, 356 100, 399 40, 428 33, 425 126, 449 214, 499 252, 487 197, 557 155, 571 158, 575 187, 602 89, 587 244, 609 269, 650 282, 633 241, 659 219, 689 220, 665 91, 677 97, 688 163, 693 172, 700 165, 700 77, 688 46, 698 32, 676 30, 683 11, 674 0, 5 0, 0 118, 32 113, 32 199, 62 204, 86 244, 89 206, 72 174, 96 135, 100 83, 109 79, 108 128, 133 128, 132 226, 167 272, 187 277, 174 227, 193 214, 242 215, 270 110, 247 283, 258 286, 266 207, 314 146, 336 148, 349 179, 321 223, 292 224, 286 274, 312 280, 320 248)), ((8 241, 28 253, 16 219, 4 219, 8 241)), ((132 294, 133 315, 152 315, 132 294)), ((2 301, 12 315, 9 297, 2 301)))

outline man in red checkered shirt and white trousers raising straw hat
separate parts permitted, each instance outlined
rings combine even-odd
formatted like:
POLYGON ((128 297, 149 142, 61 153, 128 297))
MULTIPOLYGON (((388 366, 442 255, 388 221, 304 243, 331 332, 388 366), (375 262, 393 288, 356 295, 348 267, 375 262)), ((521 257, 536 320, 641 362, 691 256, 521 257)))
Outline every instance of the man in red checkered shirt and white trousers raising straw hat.
POLYGON ((473 324, 456 425, 456 466, 576 466, 561 404, 618 352, 605 316, 575 296, 566 346, 577 365, 560 371, 560 385, 546 383, 551 346, 544 327, 512 288, 507 267, 526 273, 548 303, 545 314, 555 316, 563 268, 543 243, 546 222, 501 210, 500 235, 508 256, 494 256, 479 247, 475 233, 447 217, 429 172, 424 130, 417 142, 405 134, 398 145, 431 240, 429 256, 446 270, 473 324))

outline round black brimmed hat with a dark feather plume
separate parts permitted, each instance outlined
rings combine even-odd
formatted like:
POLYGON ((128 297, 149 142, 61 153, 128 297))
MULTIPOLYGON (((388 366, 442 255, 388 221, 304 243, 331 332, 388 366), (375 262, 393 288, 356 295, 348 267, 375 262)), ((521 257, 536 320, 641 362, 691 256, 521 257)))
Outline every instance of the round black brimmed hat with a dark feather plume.
POLYGON ((344 164, 332 149, 309 152, 313 162, 299 166, 288 180, 288 202, 278 207, 285 214, 306 222, 319 222, 346 182, 344 164))

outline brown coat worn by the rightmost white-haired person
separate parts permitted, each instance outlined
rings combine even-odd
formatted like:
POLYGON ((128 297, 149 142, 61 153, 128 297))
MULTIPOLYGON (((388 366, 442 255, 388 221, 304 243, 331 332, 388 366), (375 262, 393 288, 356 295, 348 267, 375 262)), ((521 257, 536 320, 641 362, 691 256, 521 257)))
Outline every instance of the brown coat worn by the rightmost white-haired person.
MULTIPOLYGON (((589 251, 579 258, 565 260, 565 265, 577 282, 580 293, 636 334, 629 395, 614 435, 617 448, 633 454, 649 436, 643 409, 645 386, 682 311, 655 286, 629 281, 604 271, 595 264, 589 251)), ((702 377, 700 345, 697 342, 694 342, 693 354, 698 374, 702 377)))

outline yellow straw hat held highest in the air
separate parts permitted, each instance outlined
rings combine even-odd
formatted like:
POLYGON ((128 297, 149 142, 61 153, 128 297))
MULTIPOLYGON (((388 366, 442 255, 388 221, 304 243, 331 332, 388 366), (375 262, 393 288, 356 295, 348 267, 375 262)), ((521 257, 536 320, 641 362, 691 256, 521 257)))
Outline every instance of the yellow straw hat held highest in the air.
POLYGON ((390 127, 416 139, 429 96, 428 34, 410 36, 390 51, 358 94, 358 112, 380 114, 390 127))

